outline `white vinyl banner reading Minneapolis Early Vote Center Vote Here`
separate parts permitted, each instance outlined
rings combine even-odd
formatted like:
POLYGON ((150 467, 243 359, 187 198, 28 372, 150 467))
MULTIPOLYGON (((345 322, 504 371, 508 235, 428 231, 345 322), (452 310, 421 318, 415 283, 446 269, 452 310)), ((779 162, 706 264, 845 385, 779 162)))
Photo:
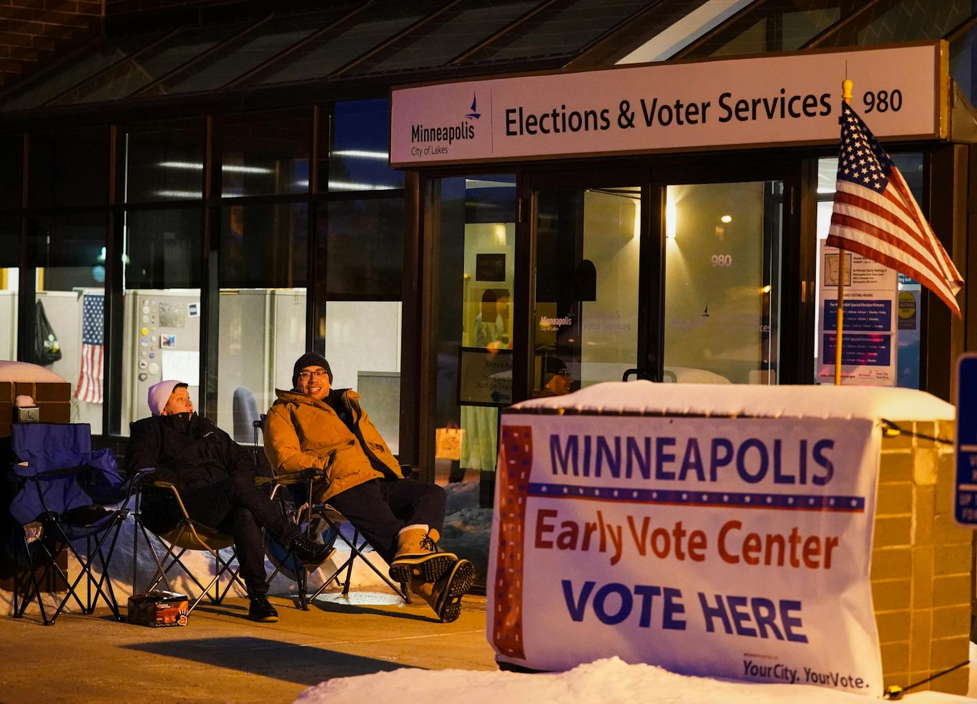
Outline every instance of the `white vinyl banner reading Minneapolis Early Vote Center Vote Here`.
POLYGON ((868 420, 502 416, 499 660, 882 693, 868 420))

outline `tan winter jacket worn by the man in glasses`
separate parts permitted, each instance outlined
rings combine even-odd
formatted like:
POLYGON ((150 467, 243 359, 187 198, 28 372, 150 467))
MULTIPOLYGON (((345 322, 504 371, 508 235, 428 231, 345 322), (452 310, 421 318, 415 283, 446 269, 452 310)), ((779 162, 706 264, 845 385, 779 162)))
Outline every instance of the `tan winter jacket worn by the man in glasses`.
POLYGON ((265 454, 277 475, 325 468, 325 481, 313 487, 317 501, 328 501, 341 491, 384 476, 373 468, 365 452, 387 467, 391 476, 404 478, 397 459, 361 408, 361 394, 352 389, 333 393, 337 391, 342 393, 361 438, 350 432, 328 403, 304 393, 276 389, 278 399, 265 420, 265 454))

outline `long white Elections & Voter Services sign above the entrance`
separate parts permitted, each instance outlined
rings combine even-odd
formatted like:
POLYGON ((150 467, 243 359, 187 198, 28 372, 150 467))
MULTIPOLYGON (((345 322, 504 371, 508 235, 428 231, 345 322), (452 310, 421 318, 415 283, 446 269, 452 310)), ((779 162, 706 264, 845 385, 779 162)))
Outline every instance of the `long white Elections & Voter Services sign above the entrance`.
POLYGON ((882 138, 942 137, 946 45, 616 67, 391 93, 394 166, 836 143, 840 86, 882 138))

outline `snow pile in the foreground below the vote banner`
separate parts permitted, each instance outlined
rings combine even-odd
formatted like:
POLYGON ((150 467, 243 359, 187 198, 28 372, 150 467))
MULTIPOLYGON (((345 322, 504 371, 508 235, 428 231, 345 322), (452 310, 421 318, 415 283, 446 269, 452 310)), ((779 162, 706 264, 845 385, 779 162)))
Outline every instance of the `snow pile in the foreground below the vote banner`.
MULTIPOLYGON (((676 675, 654 665, 628 665, 612 657, 559 674, 401 669, 336 678, 306 689, 295 704, 395 701, 416 693, 425 701, 466 704, 866 704, 862 694, 809 684, 757 684, 676 675)), ((952 704, 972 700, 954 694, 908 694, 910 704, 952 704)))

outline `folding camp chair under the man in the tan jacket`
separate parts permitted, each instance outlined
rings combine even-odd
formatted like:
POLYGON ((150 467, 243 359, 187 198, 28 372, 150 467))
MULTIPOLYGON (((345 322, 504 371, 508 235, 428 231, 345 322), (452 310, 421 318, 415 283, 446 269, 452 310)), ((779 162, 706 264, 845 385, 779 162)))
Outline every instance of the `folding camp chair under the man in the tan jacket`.
MULTIPOLYGON (((264 432, 265 429, 265 415, 262 414, 258 420, 252 423, 252 426, 254 427, 255 452, 261 452, 262 459, 267 464, 268 460, 264 458, 262 445, 259 444, 259 431, 264 432)), ((353 582, 353 565, 358 558, 362 559, 398 597, 403 599, 404 603, 410 603, 410 593, 407 591, 406 585, 396 584, 388 575, 378 569, 373 562, 363 557, 364 553, 370 552, 373 549, 366 542, 366 539, 361 536, 360 530, 356 526, 353 526, 353 535, 347 536, 343 533, 342 525, 349 523, 349 520, 327 503, 314 503, 313 484, 317 479, 325 476, 324 470, 309 468, 303 472, 281 476, 276 476, 274 474, 274 468, 272 470, 273 476, 259 476, 257 478, 258 483, 271 486, 273 499, 279 498, 283 490, 289 493, 295 506, 290 510, 287 508, 284 510, 288 512, 290 518, 303 527, 306 535, 310 538, 319 537, 312 534, 317 523, 314 518, 319 518, 327 526, 324 535, 329 536, 322 542, 327 543, 329 540, 341 540, 350 550, 350 556, 343 560, 340 565, 334 567, 319 585, 319 588, 312 594, 309 594, 309 570, 299 560, 287 554, 281 546, 276 545, 270 536, 266 536, 266 552, 268 553, 269 559, 272 559, 276 565, 275 572, 273 572, 270 579, 274 579, 276 574, 281 573, 294 580, 298 588, 299 608, 308 610, 309 602, 319 597, 333 583, 342 587, 344 596, 349 595, 350 585, 353 582)), ((350 523, 350 525, 352 526, 353 524, 350 523)))

